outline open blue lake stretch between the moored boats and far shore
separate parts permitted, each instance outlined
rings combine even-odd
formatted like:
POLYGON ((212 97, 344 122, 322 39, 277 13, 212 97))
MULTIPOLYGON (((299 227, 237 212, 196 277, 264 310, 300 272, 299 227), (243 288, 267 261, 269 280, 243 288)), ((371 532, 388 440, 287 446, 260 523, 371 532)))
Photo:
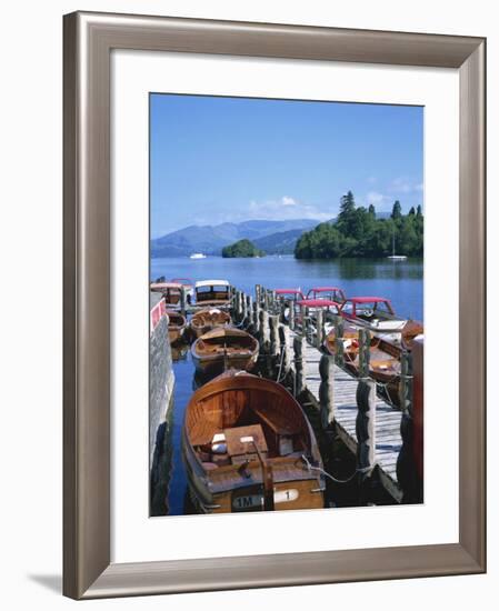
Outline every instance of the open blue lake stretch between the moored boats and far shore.
POLYGON ((407 318, 423 320, 422 259, 337 259, 303 261, 293 256, 261 259, 170 258, 151 260, 151 280, 164 276, 197 280, 228 280, 255 296, 255 284, 267 289, 340 287, 348 297, 376 296, 391 300, 395 311, 407 318))

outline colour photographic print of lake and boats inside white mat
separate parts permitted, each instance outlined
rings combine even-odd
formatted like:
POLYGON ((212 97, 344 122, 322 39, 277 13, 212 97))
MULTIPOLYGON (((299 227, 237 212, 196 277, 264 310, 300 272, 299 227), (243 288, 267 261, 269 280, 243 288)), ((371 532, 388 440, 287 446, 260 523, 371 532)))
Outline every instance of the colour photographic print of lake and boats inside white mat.
POLYGON ((423 502, 423 108, 151 93, 150 515, 423 502))

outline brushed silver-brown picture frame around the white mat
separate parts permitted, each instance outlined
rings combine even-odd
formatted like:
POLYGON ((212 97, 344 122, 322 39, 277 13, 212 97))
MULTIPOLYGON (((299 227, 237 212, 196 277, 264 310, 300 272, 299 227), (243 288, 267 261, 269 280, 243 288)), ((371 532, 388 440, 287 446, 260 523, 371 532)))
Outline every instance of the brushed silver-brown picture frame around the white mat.
POLYGON ((63 593, 180 593, 486 571, 486 40, 76 12, 64 29, 63 593), (111 562, 112 49, 459 70, 459 542, 111 562))

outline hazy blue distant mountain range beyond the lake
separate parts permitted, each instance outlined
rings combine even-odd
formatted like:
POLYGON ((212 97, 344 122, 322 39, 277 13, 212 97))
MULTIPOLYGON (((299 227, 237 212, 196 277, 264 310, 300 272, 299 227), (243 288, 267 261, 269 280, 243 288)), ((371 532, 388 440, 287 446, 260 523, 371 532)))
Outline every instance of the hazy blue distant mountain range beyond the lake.
POLYGON ((303 231, 316 227, 317 221, 243 221, 216 226, 190 226, 151 240, 151 257, 188 257, 193 252, 220 254, 221 249, 247 238, 268 254, 291 253, 303 231))

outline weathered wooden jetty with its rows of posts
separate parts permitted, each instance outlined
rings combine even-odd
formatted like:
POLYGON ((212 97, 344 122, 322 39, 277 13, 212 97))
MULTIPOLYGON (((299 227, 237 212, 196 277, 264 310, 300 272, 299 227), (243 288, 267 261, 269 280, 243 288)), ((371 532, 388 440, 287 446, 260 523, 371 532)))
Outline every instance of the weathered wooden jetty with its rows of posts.
MULTIPOLYGON (((397 409, 378 395, 377 383, 369 378, 369 331, 360 331, 365 350, 356 378, 341 367, 341 350, 333 357, 321 349, 322 313, 316 313, 311 328, 306 309, 299 324, 291 310, 285 319, 276 293, 260 286, 256 287, 255 300, 234 291, 234 320, 259 339, 267 373, 279 381, 291 378, 302 405, 315 408, 322 429, 333 431, 356 455, 359 480, 376 474, 395 502, 422 502, 422 345, 415 393, 412 358, 402 354, 402 399, 401 409, 397 409)), ((340 320, 338 325, 341 340, 340 320)))

